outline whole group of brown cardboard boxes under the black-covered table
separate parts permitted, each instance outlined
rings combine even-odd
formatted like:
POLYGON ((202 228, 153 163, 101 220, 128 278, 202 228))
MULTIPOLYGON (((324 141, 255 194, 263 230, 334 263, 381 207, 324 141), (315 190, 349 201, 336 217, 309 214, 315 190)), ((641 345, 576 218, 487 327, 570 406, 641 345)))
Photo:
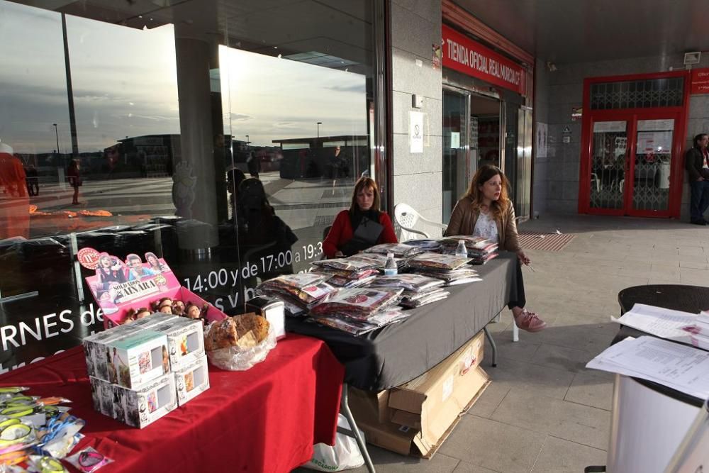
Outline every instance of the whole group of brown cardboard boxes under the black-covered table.
POLYGON ((432 457, 489 384, 479 366, 483 352, 481 332, 420 377, 389 389, 386 409, 379 402, 385 396, 373 393, 368 412, 353 411, 367 442, 402 455, 432 457), (382 413, 389 414, 388 421, 382 421, 382 413))

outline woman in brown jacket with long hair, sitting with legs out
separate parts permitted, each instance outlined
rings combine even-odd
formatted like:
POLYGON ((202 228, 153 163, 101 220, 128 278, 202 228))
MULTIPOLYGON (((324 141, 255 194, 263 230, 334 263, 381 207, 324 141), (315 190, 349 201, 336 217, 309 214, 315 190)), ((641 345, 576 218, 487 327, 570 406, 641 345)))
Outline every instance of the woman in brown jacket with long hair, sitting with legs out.
POLYGON ((519 328, 538 332, 547 323, 524 308, 522 265, 528 265, 530 259, 520 247, 515 209, 507 196, 508 186, 507 177, 498 167, 486 165, 478 169, 468 191, 455 204, 445 235, 480 235, 498 243, 500 250, 517 253, 517 268, 510 281, 510 302, 507 306, 519 328))

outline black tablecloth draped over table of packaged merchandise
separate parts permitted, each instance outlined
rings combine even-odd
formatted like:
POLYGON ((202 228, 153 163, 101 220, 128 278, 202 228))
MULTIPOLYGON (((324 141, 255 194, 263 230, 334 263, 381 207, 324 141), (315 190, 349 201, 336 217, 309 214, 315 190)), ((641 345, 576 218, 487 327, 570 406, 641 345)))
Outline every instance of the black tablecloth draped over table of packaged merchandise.
POLYGON ((447 299, 410 309, 411 316, 402 323, 361 337, 300 318, 287 318, 286 330, 325 341, 345 365, 345 382, 351 386, 389 389, 445 360, 500 313, 508 303, 515 258, 501 252, 475 267, 481 282, 449 287, 447 299))

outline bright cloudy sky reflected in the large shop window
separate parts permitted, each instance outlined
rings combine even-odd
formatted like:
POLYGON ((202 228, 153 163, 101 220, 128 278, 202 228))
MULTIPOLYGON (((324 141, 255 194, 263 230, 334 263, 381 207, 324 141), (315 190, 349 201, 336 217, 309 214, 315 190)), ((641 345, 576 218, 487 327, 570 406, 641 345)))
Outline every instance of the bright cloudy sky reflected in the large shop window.
MULTIPOLYGON (((174 30, 67 16, 79 152, 126 136, 179 133, 174 30)), ((59 13, 0 1, 0 140, 15 152, 71 150, 59 13)), ((220 47, 225 133, 252 145, 367 134, 361 74, 220 47)))

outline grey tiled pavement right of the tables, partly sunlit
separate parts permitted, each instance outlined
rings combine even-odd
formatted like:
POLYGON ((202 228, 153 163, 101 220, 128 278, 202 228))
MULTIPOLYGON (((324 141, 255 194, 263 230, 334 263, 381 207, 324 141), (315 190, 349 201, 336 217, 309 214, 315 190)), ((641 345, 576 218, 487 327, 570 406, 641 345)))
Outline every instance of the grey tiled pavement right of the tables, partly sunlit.
MULTIPOLYGON (((527 307, 547 321, 520 333, 512 317, 490 325, 492 383, 432 460, 370 446, 379 472, 583 472, 605 464, 613 376, 584 368, 618 325, 618 291, 638 284, 709 285, 709 227, 666 219, 548 216, 522 230, 576 233, 561 252, 530 250, 527 307)), ((362 467, 354 470, 366 472, 362 467)))

